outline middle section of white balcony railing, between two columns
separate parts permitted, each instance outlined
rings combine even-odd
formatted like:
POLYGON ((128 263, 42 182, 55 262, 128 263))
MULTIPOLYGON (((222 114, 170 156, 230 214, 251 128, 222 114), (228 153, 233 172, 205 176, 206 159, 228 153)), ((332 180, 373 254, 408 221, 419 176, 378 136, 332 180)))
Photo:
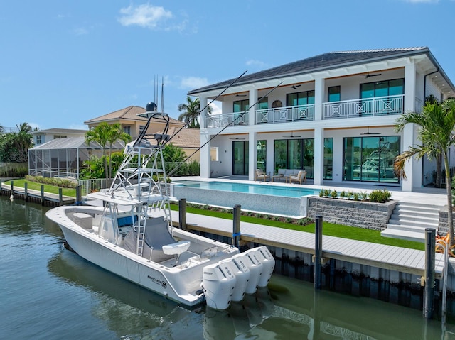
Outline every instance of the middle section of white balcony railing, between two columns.
POLYGON ((277 109, 262 109, 256 111, 256 124, 312 121, 313 119, 314 104, 287 106, 277 109))

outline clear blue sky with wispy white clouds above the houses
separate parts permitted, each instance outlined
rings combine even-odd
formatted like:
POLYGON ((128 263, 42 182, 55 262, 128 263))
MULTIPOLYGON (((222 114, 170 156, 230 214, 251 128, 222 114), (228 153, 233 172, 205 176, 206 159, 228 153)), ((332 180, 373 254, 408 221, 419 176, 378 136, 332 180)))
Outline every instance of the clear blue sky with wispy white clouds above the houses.
MULTIPOLYGON (((87 128, 337 50, 428 46, 455 82, 454 0, 0 0, 0 125, 87 128)), ((216 109, 216 108, 215 108, 216 109)))

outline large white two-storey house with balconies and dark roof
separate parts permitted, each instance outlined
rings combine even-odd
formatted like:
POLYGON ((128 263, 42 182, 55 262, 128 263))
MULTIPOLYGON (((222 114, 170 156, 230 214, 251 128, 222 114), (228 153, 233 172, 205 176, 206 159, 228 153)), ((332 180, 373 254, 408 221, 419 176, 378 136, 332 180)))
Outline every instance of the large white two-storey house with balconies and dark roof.
MULTIPOLYGON (((188 95, 205 106, 231 82, 188 95)), ((222 114, 201 112, 200 146, 220 135, 201 149, 200 175, 253 180, 256 168, 304 168, 315 185, 431 185, 435 165, 427 159, 407 163, 407 180, 395 175, 395 157, 418 143, 415 126, 397 133, 395 123, 422 110, 430 94, 444 100, 454 92, 429 48, 325 53, 245 75, 218 97, 222 114), (210 161, 213 147, 219 158, 210 161)))

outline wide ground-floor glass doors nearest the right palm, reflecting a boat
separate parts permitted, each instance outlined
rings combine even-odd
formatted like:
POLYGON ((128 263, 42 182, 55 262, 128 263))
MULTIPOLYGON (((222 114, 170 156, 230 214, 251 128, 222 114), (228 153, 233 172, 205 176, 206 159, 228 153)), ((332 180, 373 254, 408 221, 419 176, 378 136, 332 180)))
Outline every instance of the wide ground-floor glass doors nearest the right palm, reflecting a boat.
POLYGON ((343 138, 343 180, 397 183, 399 154, 400 136, 343 138))

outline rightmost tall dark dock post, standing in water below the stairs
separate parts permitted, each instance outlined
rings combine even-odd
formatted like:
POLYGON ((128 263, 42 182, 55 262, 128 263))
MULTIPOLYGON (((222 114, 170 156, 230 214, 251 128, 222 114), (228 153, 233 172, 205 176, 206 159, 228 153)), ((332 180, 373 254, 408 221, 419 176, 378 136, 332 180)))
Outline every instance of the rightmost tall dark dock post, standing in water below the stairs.
POLYGON ((425 229, 425 287, 423 312, 425 319, 432 319, 434 313, 434 262, 436 260, 436 230, 425 229))

